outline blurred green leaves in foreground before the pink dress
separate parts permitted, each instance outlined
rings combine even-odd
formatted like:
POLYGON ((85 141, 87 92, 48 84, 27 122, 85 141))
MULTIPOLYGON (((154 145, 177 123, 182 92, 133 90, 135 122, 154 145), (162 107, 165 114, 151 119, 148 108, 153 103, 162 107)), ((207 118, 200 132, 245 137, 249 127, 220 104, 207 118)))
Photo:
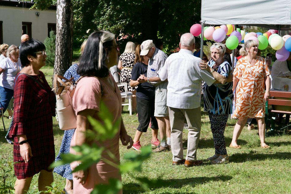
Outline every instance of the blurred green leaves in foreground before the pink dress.
MULTIPOLYGON (((134 151, 130 151, 124 155, 124 158, 128 162, 117 165, 114 161, 117 159, 115 155, 112 154, 106 147, 104 147, 104 142, 111 140, 117 135, 120 128, 121 118, 119 118, 115 123, 113 123, 113 116, 104 105, 100 103, 100 111, 98 117, 102 122, 88 117, 90 124, 93 126, 93 130, 86 130, 86 141, 92 142, 90 144, 82 144, 80 146, 74 146, 73 149, 80 153, 80 155, 74 154, 62 154, 62 160, 54 162, 51 164, 51 168, 64 165, 67 163, 72 163, 74 161, 81 161, 82 163, 77 166, 72 172, 77 172, 79 170, 86 170, 91 165, 98 163, 100 160, 108 163, 109 165, 119 169, 120 173, 128 173, 130 171, 142 171, 142 162, 149 158, 151 154, 151 146, 146 146, 141 149, 141 153, 138 154, 134 151), (110 156, 110 160, 102 157, 102 153, 106 152, 110 156)), ((139 184, 144 188, 148 189, 149 181, 147 178, 142 178, 139 180, 139 184), (145 182, 145 184, 143 184, 145 182)), ((118 179, 109 179, 108 184, 95 185, 93 194, 113 194, 117 193, 122 189, 122 183, 118 179)))

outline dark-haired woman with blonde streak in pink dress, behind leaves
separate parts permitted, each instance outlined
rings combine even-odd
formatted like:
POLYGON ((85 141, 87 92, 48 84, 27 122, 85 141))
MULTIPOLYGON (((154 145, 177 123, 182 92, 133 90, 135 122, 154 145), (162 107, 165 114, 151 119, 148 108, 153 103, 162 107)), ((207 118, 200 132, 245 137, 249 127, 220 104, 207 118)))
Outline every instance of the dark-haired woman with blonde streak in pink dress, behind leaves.
MULTIPOLYGON (((104 111, 100 103, 104 104, 112 114, 113 123, 121 118, 121 95, 108 70, 116 64, 116 47, 115 35, 108 31, 93 32, 88 38, 77 70, 77 73, 83 78, 79 80, 73 97, 77 128, 71 146, 90 144, 84 135, 86 130, 93 129, 87 117, 91 116, 101 123, 103 122, 98 116, 99 112, 104 111)), ((133 144, 131 137, 127 135, 122 118, 119 131, 112 139, 102 142, 95 140, 97 145, 102 144, 105 147, 102 159, 87 170, 73 173, 74 193, 90 193, 95 185, 108 184, 109 178, 121 181, 119 169, 115 167, 115 165, 119 165, 119 139, 123 145, 130 143, 128 149, 133 144), (108 151, 115 156, 115 159, 110 157, 108 151), (108 164, 106 160, 113 162, 114 165, 108 164)), ((71 149, 70 152, 74 153, 74 150, 71 149)), ((71 168, 74 169, 80 163, 81 161, 71 163, 71 168)), ((122 190, 119 193, 122 193, 122 190)))

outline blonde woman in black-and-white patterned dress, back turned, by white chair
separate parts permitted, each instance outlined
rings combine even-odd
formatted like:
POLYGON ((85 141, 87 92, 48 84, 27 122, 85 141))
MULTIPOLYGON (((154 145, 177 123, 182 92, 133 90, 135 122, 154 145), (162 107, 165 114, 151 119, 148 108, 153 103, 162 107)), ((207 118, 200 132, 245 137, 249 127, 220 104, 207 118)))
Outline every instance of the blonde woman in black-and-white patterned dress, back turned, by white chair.
MULTIPOLYGON (((120 73, 120 83, 127 83, 127 91, 132 92, 132 110, 136 112, 136 88, 131 87, 129 82, 131 79, 131 71, 135 64, 135 44, 133 42, 127 42, 123 54, 119 57, 118 69, 121 70, 120 73)), ((121 88, 120 91, 124 91, 121 88)))

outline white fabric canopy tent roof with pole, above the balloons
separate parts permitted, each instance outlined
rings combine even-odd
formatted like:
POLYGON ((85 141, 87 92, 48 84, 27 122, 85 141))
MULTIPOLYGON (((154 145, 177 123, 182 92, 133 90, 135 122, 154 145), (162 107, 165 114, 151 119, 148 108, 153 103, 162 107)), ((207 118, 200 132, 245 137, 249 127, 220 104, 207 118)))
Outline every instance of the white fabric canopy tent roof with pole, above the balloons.
POLYGON ((201 24, 201 50, 205 24, 242 24, 289 30, 291 0, 201 0, 201 24))

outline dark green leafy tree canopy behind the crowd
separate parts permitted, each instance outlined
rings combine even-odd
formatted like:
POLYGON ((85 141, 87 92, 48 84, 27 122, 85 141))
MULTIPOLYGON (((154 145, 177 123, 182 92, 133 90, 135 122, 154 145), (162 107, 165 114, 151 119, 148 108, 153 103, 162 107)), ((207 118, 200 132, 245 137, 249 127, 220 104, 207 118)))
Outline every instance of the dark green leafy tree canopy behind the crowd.
MULTIPOLYGON (((108 30, 126 42, 161 39, 169 49, 178 47, 179 35, 200 21, 201 0, 71 0, 74 12, 74 39, 82 42, 96 30, 108 30), (123 37, 127 35, 128 38, 123 37)), ((46 9, 55 0, 35 0, 37 9, 46 9)))

